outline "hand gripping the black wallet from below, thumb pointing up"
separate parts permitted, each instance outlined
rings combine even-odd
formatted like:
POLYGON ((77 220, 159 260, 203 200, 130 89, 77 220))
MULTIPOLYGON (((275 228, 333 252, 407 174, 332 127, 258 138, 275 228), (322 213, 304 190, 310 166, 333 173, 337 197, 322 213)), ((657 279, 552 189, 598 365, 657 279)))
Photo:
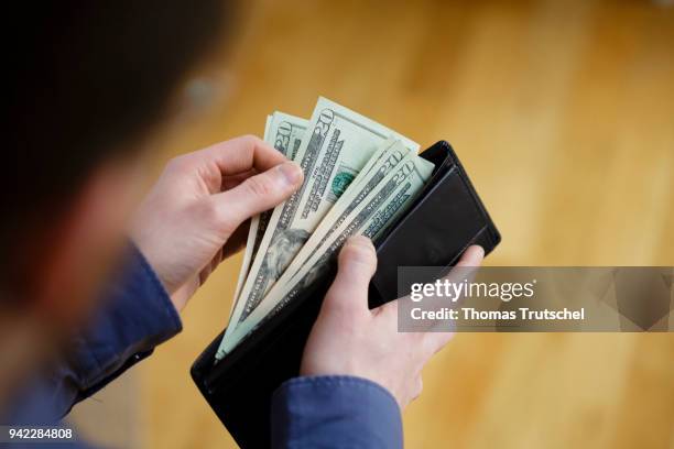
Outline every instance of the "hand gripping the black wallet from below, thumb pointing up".
MULTIPOLYGON (((457 266, 478 266, 480 247, 470 247, 457 266)), ((450 332, 398 332, 398 299, 368 309, 368 284, 377 269, 372 243, 347 241, 339 271, 304 348, 301 375, 352 375, 389 390, 403 409, 421 394, 421 371, 452 338, 450 332)))

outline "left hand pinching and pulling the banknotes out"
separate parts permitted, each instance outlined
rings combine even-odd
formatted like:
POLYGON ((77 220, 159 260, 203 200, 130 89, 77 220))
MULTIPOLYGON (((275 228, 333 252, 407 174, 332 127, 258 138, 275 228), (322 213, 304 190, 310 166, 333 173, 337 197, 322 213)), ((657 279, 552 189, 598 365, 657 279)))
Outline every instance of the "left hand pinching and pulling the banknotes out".
POLYGON ((137 212, 131 238, 180 310, 228 255, 248 219, 285 200, 302 169, 247 135, 173 158, 137 212))

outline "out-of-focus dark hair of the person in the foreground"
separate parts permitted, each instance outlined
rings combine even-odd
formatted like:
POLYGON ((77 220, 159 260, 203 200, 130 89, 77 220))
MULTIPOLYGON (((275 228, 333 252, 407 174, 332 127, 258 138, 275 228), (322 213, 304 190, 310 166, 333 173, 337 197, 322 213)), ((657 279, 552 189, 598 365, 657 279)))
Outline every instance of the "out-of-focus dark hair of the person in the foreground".
POLYGON ((0 285, 15 262, 17 236, 48 223, 101 161, 129 151, 124 142, 161 118, 175 84, 226 28, 226 6, 81 0, 4 9, 3 41, 12 47, 3 52, 0 285))

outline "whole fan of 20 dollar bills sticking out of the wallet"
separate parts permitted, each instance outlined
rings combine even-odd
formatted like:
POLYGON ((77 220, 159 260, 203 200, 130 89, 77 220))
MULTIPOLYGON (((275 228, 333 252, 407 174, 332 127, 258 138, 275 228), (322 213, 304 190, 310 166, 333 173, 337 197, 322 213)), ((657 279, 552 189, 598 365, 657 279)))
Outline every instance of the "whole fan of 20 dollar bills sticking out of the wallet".
POLYGON ((434 168, 415 142, 325 98, 309 120, 269 116, 264 140, 300 164, 304 183, 251 220, 218 360, 318 280, 349 237, 384 232, 434 168))

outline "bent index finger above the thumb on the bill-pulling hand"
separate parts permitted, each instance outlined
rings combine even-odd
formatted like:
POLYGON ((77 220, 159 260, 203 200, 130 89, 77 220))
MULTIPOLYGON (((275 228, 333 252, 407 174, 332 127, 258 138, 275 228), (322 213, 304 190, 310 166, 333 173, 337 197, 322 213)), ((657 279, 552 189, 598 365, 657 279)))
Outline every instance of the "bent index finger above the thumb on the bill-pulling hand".
POLYGON ((265 172, 287 158, 270 144, 254 135, 243 135, 216 143, 193 153, 200 163, 215 164, 225 176, 256 168, 265 172))

